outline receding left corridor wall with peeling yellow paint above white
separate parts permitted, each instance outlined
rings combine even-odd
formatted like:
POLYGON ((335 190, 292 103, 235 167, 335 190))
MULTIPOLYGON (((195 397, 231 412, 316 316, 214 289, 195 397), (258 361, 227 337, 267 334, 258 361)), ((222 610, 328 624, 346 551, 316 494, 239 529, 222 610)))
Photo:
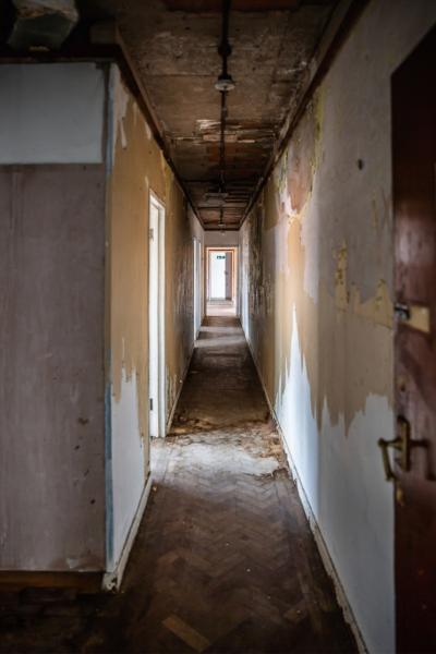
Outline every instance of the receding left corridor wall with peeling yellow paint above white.
POLYGON ((152 136, 141 109, 111 66, 107 226, 107 388, 111 435, 108 555, 123 548, 149 475, 148 209, 166 209, 166 385, 170 415, 193 346, 193 235, 203 230, 152 136))

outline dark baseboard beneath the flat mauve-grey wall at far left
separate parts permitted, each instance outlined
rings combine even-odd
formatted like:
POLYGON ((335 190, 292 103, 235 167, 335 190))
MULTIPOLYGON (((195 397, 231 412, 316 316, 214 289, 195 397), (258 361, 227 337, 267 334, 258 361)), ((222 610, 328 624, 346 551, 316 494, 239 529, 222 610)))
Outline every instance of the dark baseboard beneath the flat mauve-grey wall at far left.
POLYGON ((94 594, 101 590, 102 574, 68 570, 0 570, 0 589, 74 589, 78 593, 94 594))

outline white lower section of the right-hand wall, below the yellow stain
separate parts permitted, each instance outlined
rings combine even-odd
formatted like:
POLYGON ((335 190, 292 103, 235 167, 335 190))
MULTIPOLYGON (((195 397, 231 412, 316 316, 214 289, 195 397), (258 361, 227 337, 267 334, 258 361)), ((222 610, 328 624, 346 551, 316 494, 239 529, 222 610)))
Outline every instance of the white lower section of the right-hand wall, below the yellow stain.
POLYGON ((386 398, 368 396, 344 437, 343 416, 332 424, 324 404, 319 432, 292 313, 291 364, 276 415, 366 644, 371 652, 393 652, 392 488, 377 447, 380 434, 392 432, 392 408, 386 398))

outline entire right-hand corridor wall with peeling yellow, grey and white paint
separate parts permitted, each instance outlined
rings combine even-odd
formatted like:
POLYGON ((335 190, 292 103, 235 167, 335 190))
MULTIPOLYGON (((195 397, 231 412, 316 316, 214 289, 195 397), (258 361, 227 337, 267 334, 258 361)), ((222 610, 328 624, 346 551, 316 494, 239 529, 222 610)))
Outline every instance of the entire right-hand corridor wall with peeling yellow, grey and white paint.
POLYGON ((435 20, 370 3, 241 230, 243 327, 371 652, 395 650, 390 75, 435 20))

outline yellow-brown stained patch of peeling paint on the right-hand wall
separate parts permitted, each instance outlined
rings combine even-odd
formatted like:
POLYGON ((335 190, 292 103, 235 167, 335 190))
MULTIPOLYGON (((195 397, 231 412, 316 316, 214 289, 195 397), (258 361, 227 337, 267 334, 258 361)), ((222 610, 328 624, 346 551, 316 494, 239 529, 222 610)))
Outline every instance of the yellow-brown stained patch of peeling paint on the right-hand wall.
MULTIPOLYGON (((323 238, 322 225, 316 226, 318 233, 312 234, 310 242, 305 243, 302 234, 304 225, 314 221, 313 203, 317 201, 312 197, 312 189, 318 168, 316 138, 320 126, 315 113, 319 111, 319 98, 320 94, 243 228, 243 242, 250 251, 250 332, 266 390, 275 401, 288 377, 295 328, 307 370, 311 410, 318 426, 326 405, 331 421, 336 424, 343 414, 348 427, 355 413, 364 409, 370 393, 386 396, 391 403, 391 360, 386 353, 390 350, 392 304, 383 277, 365 301, 356 283, 348 282, 346 237, 331 240, 327 257, 335 270, 332 275, 329 270, 327 279, 322 274, 316 298, 305 288, 310 265, 306 250, 316 247, 320 254, 317 239, 323 238), (295 320, 290 307, 295 310, 295 320), (353 353, 356 361, 344 360, 346 337, 361 342, 353 353), (360 383, 347 392, 353 374, 350 365, 359 371, 360 383), (387 374, 374 375, 380 365, 387 374)), ((314 263, 325 269, 322 257, 314 263)))

